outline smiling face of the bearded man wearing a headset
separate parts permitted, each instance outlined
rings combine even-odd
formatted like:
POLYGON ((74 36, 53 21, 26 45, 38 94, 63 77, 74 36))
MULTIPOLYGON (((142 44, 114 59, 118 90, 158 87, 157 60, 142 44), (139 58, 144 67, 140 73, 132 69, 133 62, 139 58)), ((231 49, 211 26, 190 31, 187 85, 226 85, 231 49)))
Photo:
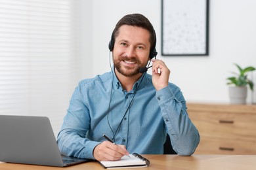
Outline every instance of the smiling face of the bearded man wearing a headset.
POLYGON ((142 27, 122 25, 113 49, 113 61, 116 70, 124 76, 140 74, 150 54, 150 33, 142 27))

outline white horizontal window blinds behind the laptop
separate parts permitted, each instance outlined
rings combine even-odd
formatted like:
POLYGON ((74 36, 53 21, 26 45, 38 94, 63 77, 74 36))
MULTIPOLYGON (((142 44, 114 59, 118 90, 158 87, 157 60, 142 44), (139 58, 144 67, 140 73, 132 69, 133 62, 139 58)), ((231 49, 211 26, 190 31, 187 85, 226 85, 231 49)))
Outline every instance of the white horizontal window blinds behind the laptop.
POLYGON ((59 131, 79 80, 74 0, 0 0, 0 114, 48 116, 59 131))

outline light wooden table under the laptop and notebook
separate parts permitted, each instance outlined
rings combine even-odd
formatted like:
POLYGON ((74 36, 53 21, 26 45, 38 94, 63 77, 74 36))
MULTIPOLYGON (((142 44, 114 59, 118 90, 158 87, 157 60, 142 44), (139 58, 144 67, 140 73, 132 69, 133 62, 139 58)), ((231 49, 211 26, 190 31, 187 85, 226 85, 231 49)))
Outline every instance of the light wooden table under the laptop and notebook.
MULTIPOLYGON (((256 169, 256 155, 203 155, 193 156, 177 155, 143 155, 150 160, 149 167, 139 169, 256 169)), ((0 163, 1 170, 78 170, 78 169, 104 169, 98 162, 87 162, 70 167, 47 167, 39 165, 24 165, 18 163, 0 163)), ((127 168, 128 169, 128 168, 127 168)))

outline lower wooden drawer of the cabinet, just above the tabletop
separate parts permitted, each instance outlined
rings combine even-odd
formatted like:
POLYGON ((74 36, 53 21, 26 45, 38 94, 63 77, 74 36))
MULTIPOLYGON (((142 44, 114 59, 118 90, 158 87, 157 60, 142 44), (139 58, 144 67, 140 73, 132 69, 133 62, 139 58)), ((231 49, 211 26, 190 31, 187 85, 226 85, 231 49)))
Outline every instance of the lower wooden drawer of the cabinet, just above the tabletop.
POLYGON ((194 154, 256 154, 256 142, 202 136, 194 154))

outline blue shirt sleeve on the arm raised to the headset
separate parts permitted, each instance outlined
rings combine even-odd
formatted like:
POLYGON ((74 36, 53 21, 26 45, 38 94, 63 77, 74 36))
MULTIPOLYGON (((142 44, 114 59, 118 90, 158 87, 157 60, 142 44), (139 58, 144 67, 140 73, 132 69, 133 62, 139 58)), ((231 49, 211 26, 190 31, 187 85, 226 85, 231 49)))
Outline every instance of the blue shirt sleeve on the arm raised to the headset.
POLYGON ((182 156, 192 155, 200 142, 200 135, 188 116, 181 90, 169 85, 157 91, 156 98, 173 150, 182 156))

